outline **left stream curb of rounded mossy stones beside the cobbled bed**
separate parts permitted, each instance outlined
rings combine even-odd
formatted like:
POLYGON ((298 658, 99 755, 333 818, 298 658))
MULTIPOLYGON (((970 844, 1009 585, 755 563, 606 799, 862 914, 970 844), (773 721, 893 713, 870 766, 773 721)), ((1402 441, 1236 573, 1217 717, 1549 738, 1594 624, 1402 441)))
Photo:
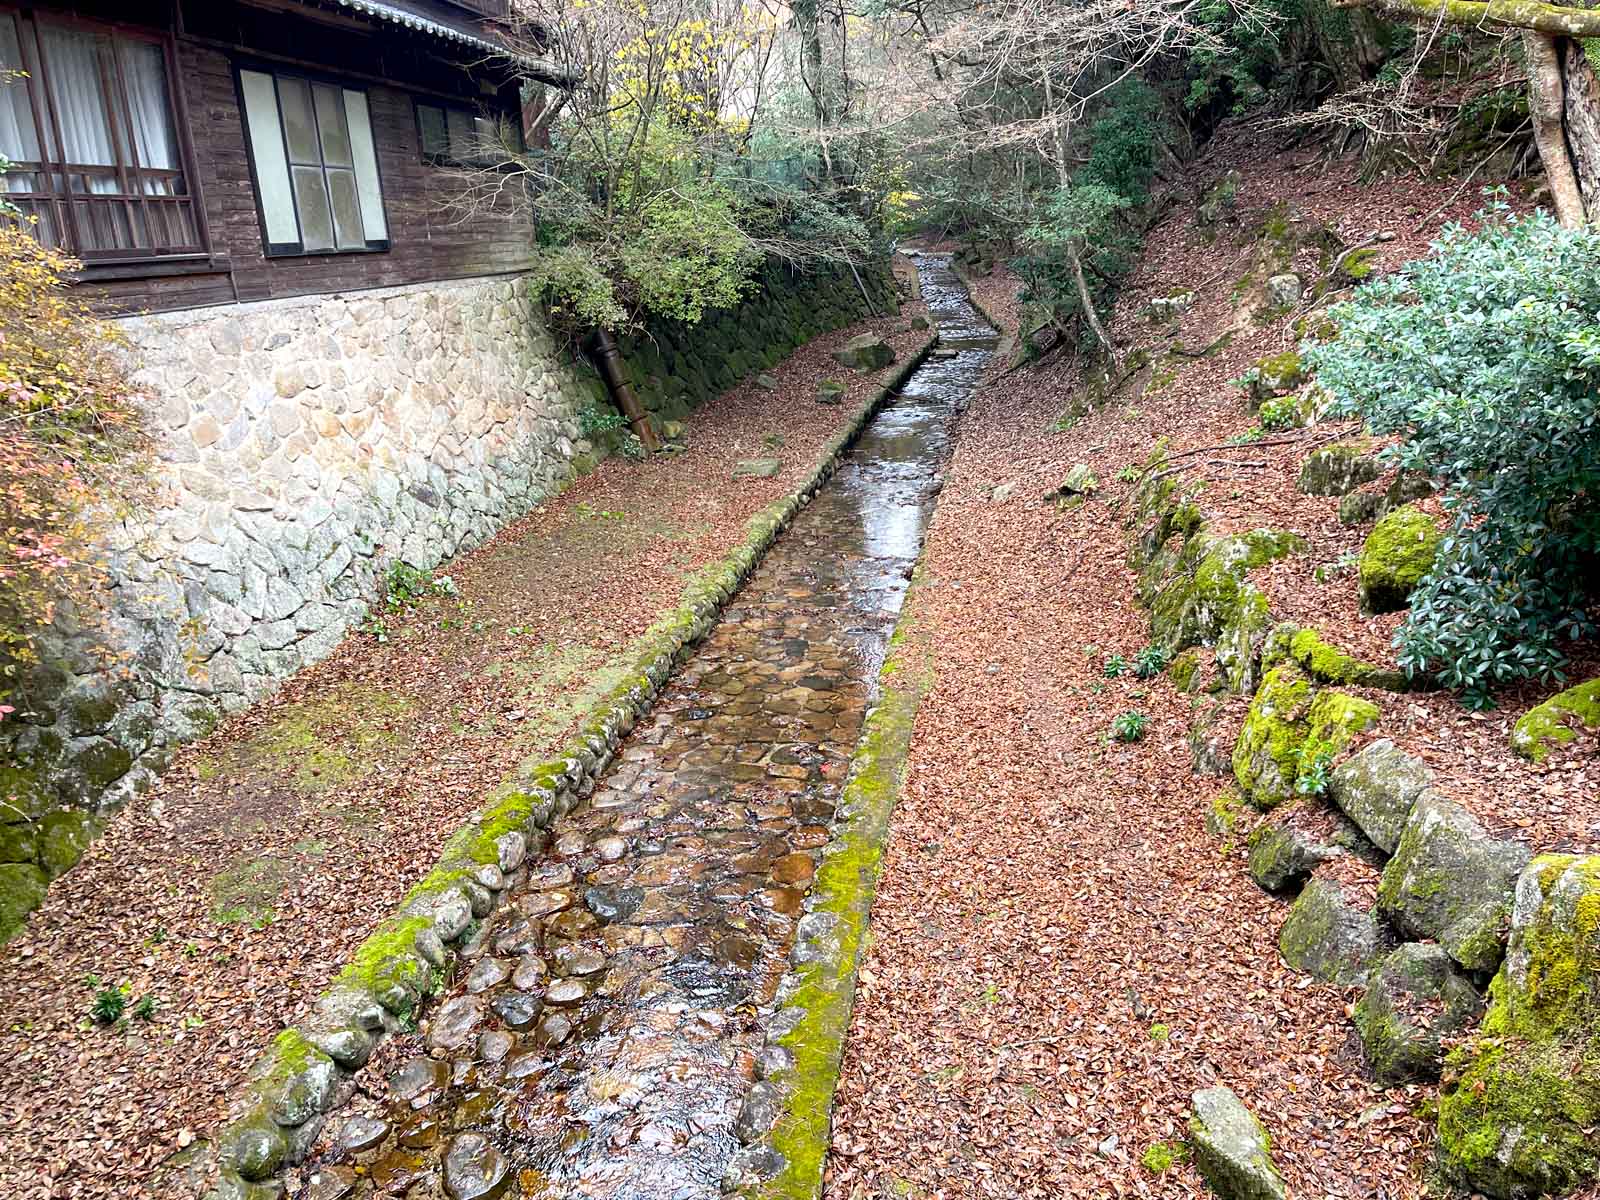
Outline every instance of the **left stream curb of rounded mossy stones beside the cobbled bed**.
MULTIPOLYGON (((589 710, 562 752, 547 762, 525 763, 488 797, 445 843, 438 862, 406 893, 398 910, 357 947, 318 997, 304 1027, 280 1034, 256 1061, 250 1083, 230 1104, 227 1126, 218 1134, 216 1200, 250 1195, 253 1184, 304 1158, 322 1123, 320 1110, 312 1110, 318 1106, 302 1102, 309 1093, 307 1072, 323 1072, 328 1062, 336 1064, 339 1077, 355 1072, 379 1040, 416 1021, 427 997, 443 986, 451 944, 477 933, 510 891, 530 850, 542 843, 544 830, 592 790, 594 779, 650 709, 678 656, 710 632, 766 549, 834 475, 843 453, 934 344, 934 338, 925 341, 874 390, 829 438, 800 486, 746 523, 744 539, 726 558, 688 581, 678 606, 634 643, 622 682, 589 710), (288 1117, 299 1122, 290 1123, 288 1117)), ((334 1090, 314 1094, 326 1101, 334 1090)))

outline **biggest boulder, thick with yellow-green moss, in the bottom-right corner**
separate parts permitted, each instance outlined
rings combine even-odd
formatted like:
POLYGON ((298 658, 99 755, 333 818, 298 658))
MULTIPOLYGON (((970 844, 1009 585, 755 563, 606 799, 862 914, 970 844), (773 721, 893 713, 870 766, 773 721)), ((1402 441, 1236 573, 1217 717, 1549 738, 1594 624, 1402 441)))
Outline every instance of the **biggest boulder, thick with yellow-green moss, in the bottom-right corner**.
POLYGON ((1506 965, 1438 1104, 1445 1168, 1512 1200, 1600 1179, 1600 856, 1546 854, 1517 880, 1506 965))

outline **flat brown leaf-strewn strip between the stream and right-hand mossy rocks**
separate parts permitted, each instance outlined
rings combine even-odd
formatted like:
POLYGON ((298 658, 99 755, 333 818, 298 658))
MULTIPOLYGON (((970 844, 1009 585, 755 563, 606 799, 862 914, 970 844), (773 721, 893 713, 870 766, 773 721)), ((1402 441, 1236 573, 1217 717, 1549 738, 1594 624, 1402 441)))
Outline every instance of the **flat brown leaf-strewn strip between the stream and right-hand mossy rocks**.
POLYGON ((1205 834, 1186 699, 1106 680, 1147 642, 1126 531, 1040 498, 1066 466, 1110 480, 1120 413, 1043 437, 1050 387, 981 394, 920 594, 936 683, 872 914, 829 1195, 1198 1195, 1189 1094, 1232 1086, 1301 1195, 1411 1195, 1416 1098, 1363 1082, 1346 997, 1278 962, 1278 901, 1205 834), (989 493, 1016 482, 1008 502, 989 493), (1107 742, 1139 709, 1146 739, 1107 742), (1389 1107, 1382 1107, 1382 1106, 1389 1107))

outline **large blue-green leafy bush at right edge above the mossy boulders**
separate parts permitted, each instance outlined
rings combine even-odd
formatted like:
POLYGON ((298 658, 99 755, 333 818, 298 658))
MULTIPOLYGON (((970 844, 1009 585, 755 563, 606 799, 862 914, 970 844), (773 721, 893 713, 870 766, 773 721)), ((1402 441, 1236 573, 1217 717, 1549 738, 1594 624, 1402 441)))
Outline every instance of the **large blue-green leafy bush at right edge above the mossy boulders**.
POLYGON ((1302 354, 1389 459, 1435 477, 1453 517, 1397 635, 1411 672, 1474 706, 1518 678, 1562 678, 1592 632, 1600 558, 1600 230, 1502 202, 1470 232, 1362 286, 1302 354))

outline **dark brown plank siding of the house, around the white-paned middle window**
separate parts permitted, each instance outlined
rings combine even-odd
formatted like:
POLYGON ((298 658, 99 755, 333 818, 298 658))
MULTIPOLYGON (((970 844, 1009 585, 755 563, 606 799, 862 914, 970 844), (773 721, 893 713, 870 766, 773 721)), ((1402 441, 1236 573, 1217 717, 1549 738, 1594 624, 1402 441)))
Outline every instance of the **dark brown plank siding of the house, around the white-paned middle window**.
MULTIPOLYGON (((219 48, 218 38, 179 35, 178 74, 192 133, 195 182, 210 226, 213 262, 206 270, 150 278, 104 280, 90 274, 85 286, 96 294, 101 307, 109 312, 157 312, 528 269, 533 229, 526 216, 507 202, 499 211, 459 221, 445 208, 454 192, 450 171, 422 162, 414 99, 438 101, 451 93, 461 99, 470 96, 467 85, 472 80, 446 62, 446 46, 411 45, 403 54, 370 54, 363 59, 341 46, 344 38, 339 34, 330 38, 315 24, 288 14, 275 19, 290 27, 304 26, 294 30, 296 42, 304 48, 301 53, 333 46, 320 56, 328 59, 325 69, 294 62, 283 66, 285 70, 366 88, 390 248, 357 254, 266 256, 234 72, 235 58, 270 69, 275 56, 253 58, 248 51, 238 54, 219 48), (432 59, 430 51, 440 58, 432 59), (334 62, 362 66, 347 74, 334 62), (426 83, 413 93, 402 85, 379 85, 363 78, 397 67, 411 67, 426 83)), ((378 37, 365 35, 362 40, 374 42, 378 37)))

